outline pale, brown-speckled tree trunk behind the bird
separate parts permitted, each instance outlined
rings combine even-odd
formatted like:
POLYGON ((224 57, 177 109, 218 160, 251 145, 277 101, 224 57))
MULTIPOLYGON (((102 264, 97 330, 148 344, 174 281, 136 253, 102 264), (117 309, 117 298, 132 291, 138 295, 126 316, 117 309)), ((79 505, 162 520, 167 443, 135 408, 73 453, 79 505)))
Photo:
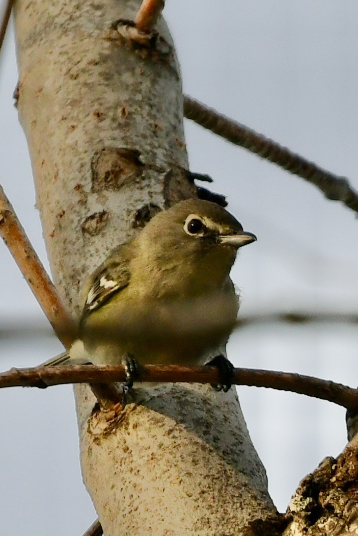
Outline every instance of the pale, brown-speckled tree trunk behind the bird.
MULTIPOLYGON (((139 2, 18 0, 18 109, 55 284, 78 314, 84 278, 156 211, 192 197, 180 76, 139 2)), ((122 413, 76 389, 83 478, 106 536, 247 534, 275 509, 234 391, 137 389, 122 413)))

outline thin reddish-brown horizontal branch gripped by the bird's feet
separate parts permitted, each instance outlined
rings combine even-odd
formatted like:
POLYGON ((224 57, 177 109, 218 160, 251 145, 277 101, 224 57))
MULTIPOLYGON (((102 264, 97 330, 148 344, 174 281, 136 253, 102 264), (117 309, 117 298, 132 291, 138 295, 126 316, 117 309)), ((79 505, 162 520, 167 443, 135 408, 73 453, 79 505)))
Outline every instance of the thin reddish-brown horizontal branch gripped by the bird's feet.
MULTIPOLYGON (((141 365, 140 381, 168 383, 212 383, 222 381, 216 367, 179 367, 177 365, 141 365)), ((11 369, 0 374, 0 388, 38 387, 65 383, 106 384, 126 379, 122 365, 73 365, 11 369)), ((358 410, 358 390, 325 379, 283 373, 272 370, 237 368, 232 383, 255 387, 269 387, 328 400, 349 410, 358 410)))

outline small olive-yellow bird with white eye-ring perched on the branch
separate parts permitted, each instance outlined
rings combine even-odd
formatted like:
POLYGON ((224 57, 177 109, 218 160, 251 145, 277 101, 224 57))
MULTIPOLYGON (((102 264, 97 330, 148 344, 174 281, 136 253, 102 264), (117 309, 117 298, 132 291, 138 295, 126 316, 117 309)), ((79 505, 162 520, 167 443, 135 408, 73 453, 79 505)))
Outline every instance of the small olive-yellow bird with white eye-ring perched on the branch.
MULTIPOLYGON (((81 348, 92 363, 124 363, 131 385, 137 362, 206 363, 235 326, 239 302, 229 273, 238 248, 254 240, 209 201, 186 199, 156 214, 94 271, 84 287, 81 343, 47 364, 76 359, 81 348)), ((217 389, 227 391, 231 363, 217 355, 207 364, 220 368, 217 389)))

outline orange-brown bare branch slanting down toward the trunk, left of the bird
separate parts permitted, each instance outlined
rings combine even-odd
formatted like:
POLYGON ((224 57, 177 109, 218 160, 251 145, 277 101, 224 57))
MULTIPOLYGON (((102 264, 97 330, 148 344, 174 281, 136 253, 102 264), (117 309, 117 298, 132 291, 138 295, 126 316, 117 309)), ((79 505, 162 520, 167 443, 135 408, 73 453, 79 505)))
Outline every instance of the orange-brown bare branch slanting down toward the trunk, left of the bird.
POLYGON ((53 326, 57 337, 66 348, 75 339, 74 325, 70 323, 52 281, 26 236, 9 199, 0 186, 0 236, 8 246, 21 273, 53 326))

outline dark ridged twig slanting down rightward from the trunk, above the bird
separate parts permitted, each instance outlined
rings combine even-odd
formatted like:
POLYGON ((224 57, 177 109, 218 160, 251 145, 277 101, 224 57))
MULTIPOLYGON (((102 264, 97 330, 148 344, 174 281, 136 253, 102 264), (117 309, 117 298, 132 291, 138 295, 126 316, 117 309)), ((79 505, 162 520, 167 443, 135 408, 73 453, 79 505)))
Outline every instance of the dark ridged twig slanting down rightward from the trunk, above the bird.
POLYGON ((264 135, 233 121, 216 110, 209 108, 191 97, 184 96, 184 115, 229 142, 240 145, 261 158, 274 162, 290 173, 315 184, 327 199, 341 201, 349 209, 358 213, 358 192, 349 184, 346 177, 334 175, 315 163, 282 147, 264 135))

